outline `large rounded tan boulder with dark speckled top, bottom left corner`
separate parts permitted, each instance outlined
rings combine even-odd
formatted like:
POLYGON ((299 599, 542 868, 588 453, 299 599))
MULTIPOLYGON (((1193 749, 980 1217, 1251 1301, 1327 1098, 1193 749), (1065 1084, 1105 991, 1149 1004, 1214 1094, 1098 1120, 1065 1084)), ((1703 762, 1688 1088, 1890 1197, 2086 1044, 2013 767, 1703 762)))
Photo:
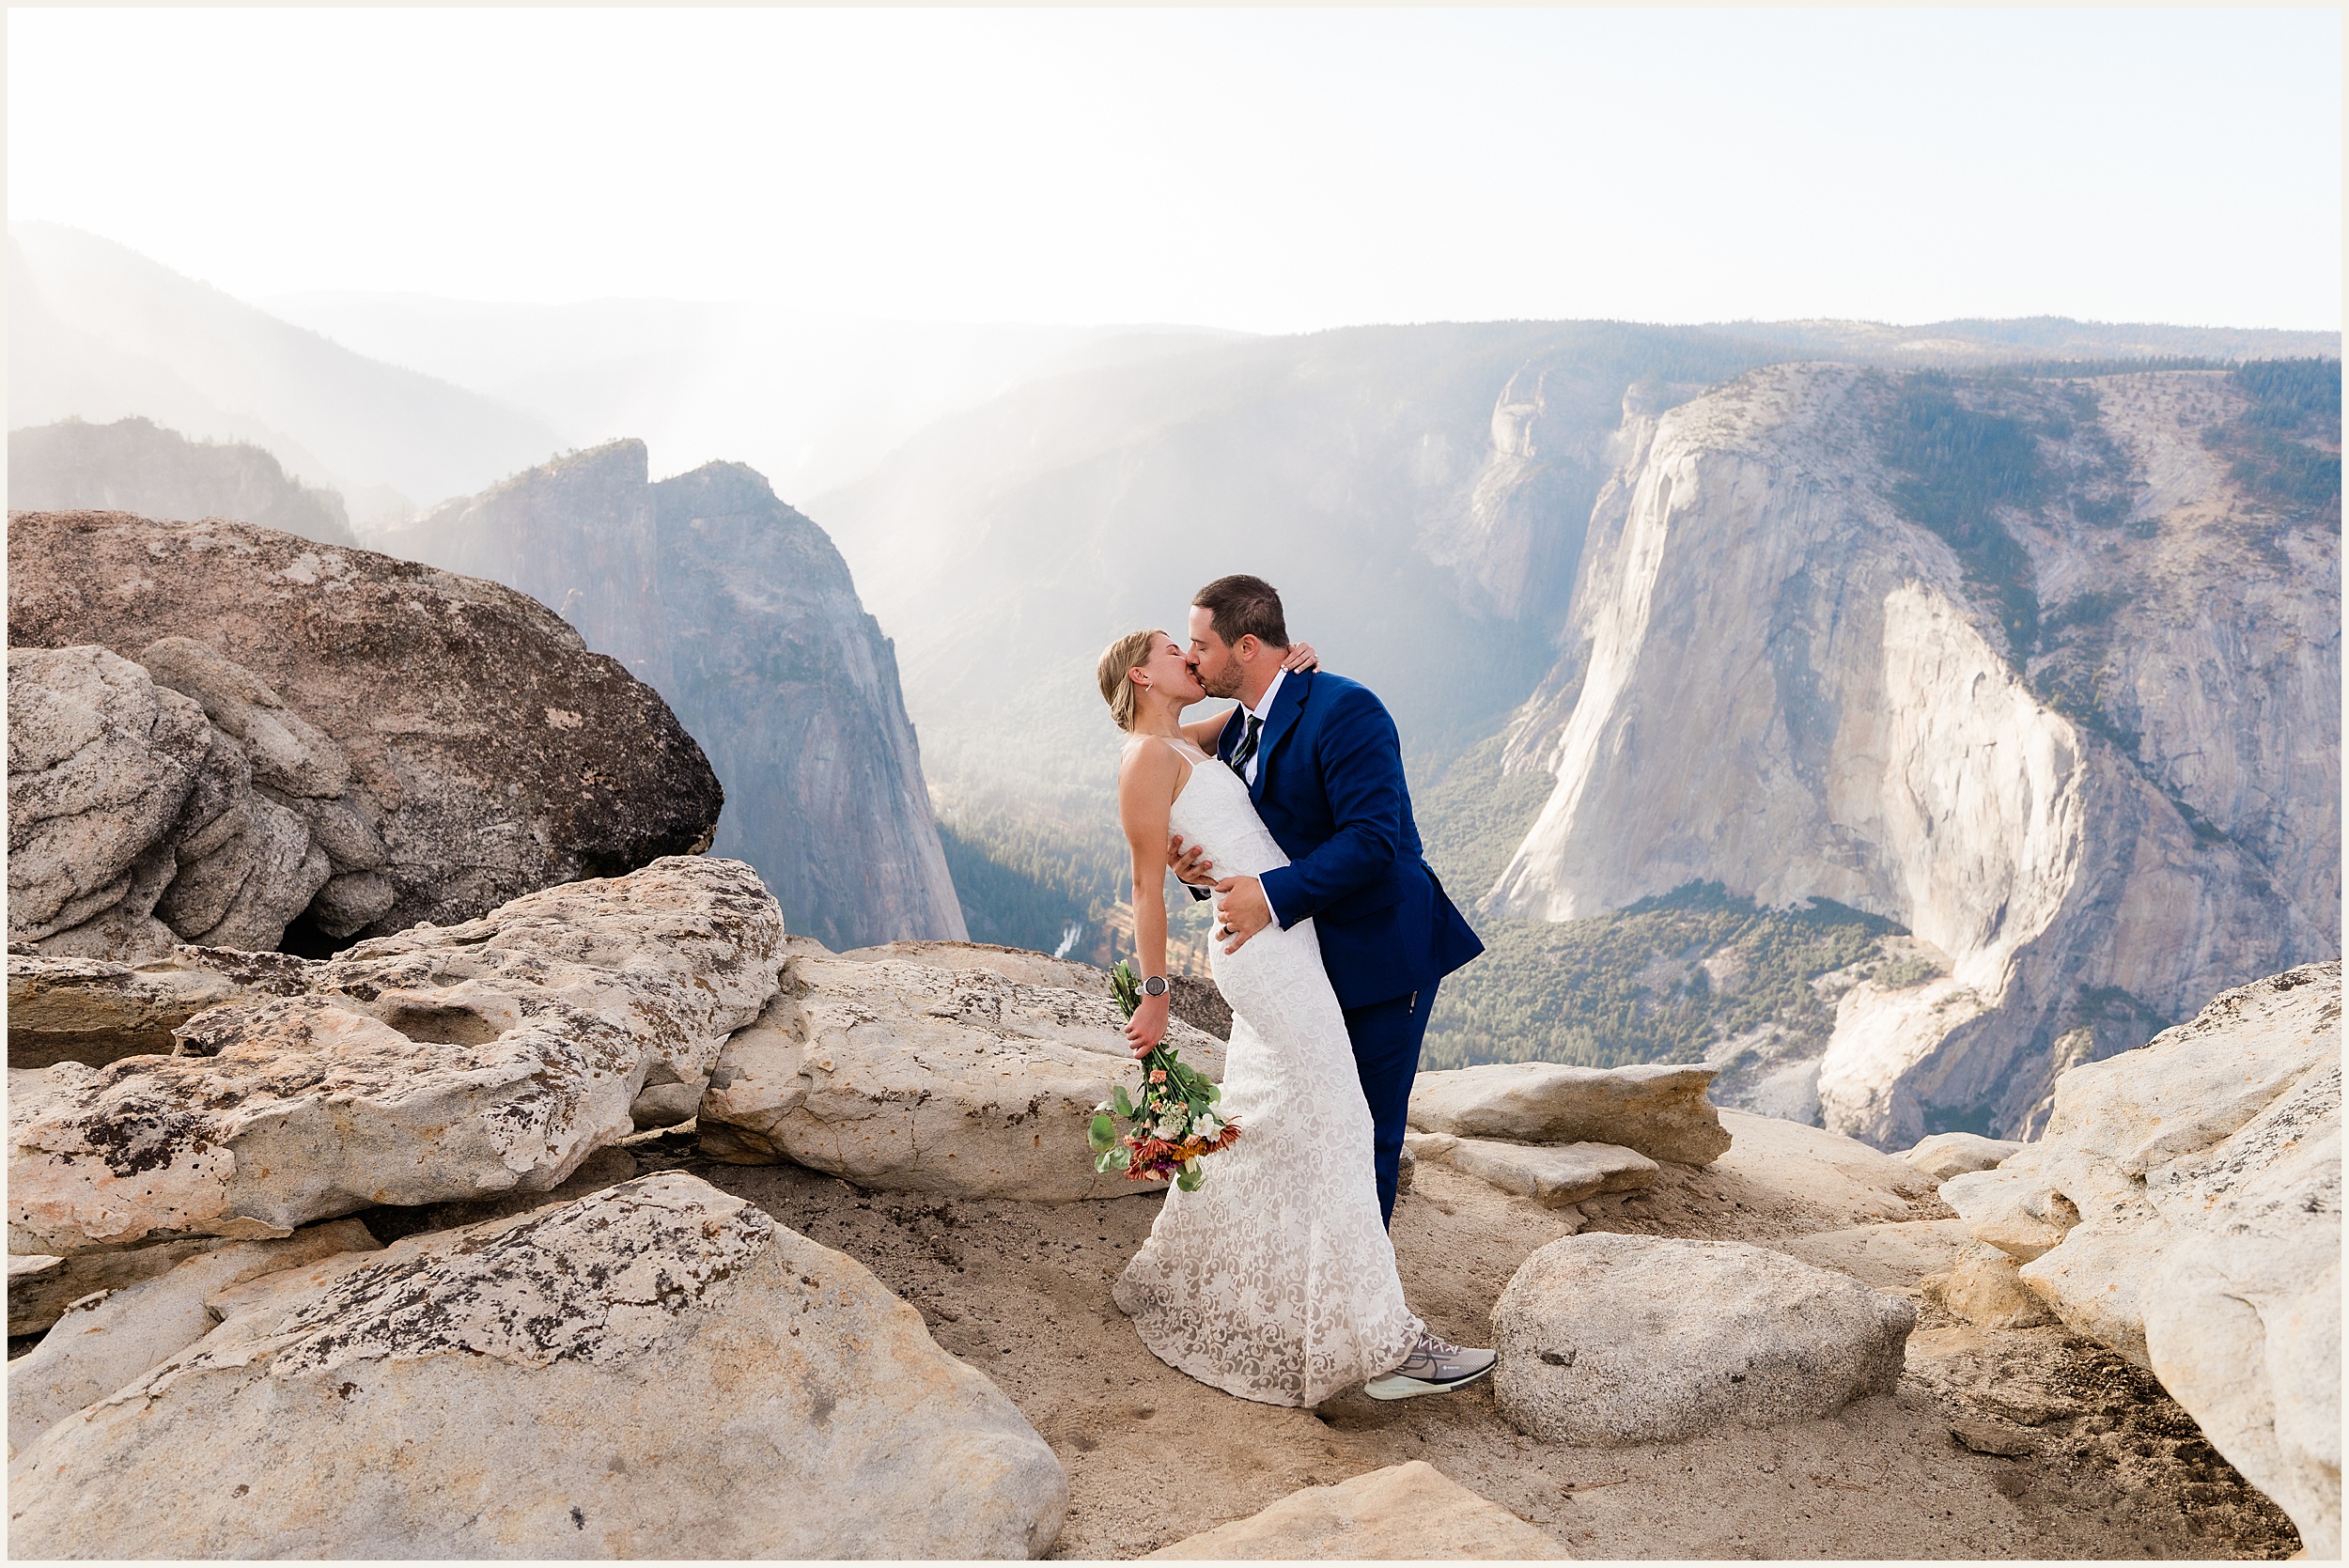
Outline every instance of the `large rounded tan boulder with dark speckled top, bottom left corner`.
POLYGON ((228 1317, 16 1455, 9 1552, 1036 1556, 1066 1505, 914 1307, 669 1171, 228 1317))

